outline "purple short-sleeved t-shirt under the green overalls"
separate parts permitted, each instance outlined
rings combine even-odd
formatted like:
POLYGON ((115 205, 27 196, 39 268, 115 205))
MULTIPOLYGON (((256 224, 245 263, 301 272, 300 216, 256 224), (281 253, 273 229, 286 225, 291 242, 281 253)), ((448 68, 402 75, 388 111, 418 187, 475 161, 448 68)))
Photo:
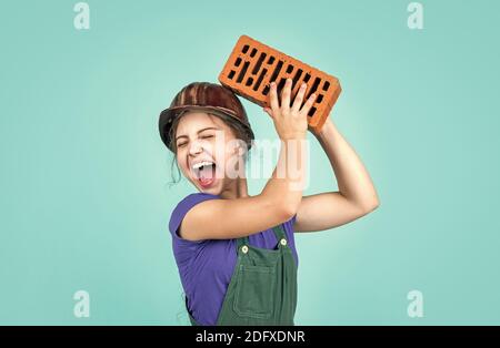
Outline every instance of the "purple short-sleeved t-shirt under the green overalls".
MULTIPOLYGON (((184 197, 172 212, 169 229, 172 234, 173 255, 188 297, 188 307, 200 325, 216 325, 219 311, 237 263, 237 239, 187 240, 179 236, 179 226, 184 215, 198 203, 221 199, 218 195, 193 193, 184 197)), ((297 266, 296 242, 293 238, 293 216, 282 224, 287 242, 297 266)), ((273 249, 278 245, 272 228, 249 236, 250 245, 273 249)))

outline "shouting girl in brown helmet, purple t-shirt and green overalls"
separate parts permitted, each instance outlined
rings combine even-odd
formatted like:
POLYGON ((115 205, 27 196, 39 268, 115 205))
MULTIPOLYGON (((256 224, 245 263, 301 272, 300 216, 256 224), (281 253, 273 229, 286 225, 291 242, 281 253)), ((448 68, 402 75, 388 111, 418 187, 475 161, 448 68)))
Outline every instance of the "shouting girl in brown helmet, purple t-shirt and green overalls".
POLYGON ((294 325, 293 233, 332 228, 379 205, 367 170, 330 119, 314 136, 330 160, 339 192, 302 196, 306 153, 297 144, 306 141, 316 95, 304 101, 302 83, 292 98, 291 85, 287 80, 280 99, 276 83, 270 85, 264 111, 281 146, 272 176, 254 196, 248 194, 244 177, 253 132, 232 91, 191 83, 160 115, 162 141, 199 191, 176 206, 169 223, 192 325, 294 325), (290 157, 293 173, 287 170, 290 157))

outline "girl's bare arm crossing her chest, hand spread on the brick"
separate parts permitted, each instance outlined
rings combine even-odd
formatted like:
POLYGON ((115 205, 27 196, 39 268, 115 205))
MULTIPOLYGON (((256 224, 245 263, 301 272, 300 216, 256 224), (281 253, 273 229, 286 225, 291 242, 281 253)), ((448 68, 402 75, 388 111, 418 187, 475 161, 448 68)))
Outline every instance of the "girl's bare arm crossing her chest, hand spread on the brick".
POLYGON ((304 156, 303 149, 297 146, 297 142, 306 141, 307 114, 314 96, 311 96, 302 109, 300 109, 302 98, 298 96, 290 108, 291 80, 287 82, 287 86, 280 106, 276 84, 271 85, 272 113, 271 109, 268 113, 274 122, 281 149, 277 166, 262 193, 253 197, 211 199, 196 205, 181 223, 180 234, 183 238, 190 240, 238 238, 279 225, 296 214, 302 199, 302 190, 298 187, 304 182, 306 163, 299 162, 293 166, 293 171, 289 171, 287 161, 290 160, 291 150, 296 151, 293 158, 304 156))

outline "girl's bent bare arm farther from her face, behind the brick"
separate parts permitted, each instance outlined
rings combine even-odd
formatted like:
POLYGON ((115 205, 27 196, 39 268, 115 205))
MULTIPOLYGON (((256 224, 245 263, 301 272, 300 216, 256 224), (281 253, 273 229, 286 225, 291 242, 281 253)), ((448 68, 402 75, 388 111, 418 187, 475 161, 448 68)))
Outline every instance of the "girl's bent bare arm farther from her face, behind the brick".
POLYGON ((296 232, 329 229, 352 222, 379 206, 379 198, 367 168, 354 150, 328 119, 314 134, 328 158, 339 192, 304 196, 293 225, 296 232))

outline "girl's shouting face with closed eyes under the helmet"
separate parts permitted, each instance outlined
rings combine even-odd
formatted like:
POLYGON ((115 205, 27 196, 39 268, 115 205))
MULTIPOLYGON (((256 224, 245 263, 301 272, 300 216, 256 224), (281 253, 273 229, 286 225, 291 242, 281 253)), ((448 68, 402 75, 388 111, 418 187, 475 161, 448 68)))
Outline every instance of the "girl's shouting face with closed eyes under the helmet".
POLYGON ((176 144, 182 174, 200 192, 220 195, 244 167, 234 133, 218 116, 198 111, 183 114, 176 144))

